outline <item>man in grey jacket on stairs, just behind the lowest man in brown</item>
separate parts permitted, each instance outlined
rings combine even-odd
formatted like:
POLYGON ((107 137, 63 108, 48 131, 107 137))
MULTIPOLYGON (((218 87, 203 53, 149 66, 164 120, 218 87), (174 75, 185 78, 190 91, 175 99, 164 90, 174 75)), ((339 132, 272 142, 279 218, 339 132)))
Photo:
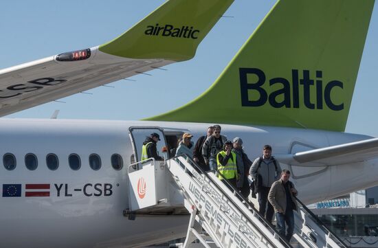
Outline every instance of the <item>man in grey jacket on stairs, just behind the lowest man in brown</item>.
POLYGON ((258 187, 258 212, 260 212, 262 216, 265 216, 266 212, 266 218, 269 223, 271 223, 273 218, 274 208, 271 203, 267 201, 267 198, 271 185, 280 179, 281 172, 280 163, 271 156, 271 146, 269 145, 264 146, 263 156, 256 158, 249 169, 249 174, 252 176, 252 179, 254 179, 254 181, 258 180, 260 185, 260 187, 258 187))

